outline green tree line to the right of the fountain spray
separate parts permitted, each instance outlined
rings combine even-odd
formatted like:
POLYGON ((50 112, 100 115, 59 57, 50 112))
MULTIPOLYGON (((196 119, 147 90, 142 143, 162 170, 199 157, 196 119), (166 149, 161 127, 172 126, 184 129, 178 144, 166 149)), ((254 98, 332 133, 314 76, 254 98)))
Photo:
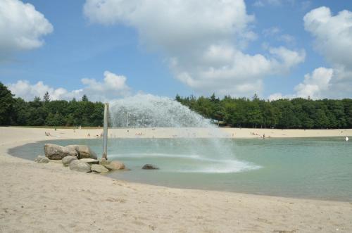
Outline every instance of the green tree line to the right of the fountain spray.
POLYGON ((352 99, 279 99, 268 101, 225 96, 181 97, 176 101, 205 118, 230 127, 280 129, 352 128, 352 99))

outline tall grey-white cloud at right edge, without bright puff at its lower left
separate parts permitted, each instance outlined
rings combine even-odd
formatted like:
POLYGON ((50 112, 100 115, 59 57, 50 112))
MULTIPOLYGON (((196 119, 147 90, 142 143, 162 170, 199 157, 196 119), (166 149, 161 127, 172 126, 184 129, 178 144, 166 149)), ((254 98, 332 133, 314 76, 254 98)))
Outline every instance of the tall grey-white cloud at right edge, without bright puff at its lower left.
POLYGON ((325 93, 332 98, 351 97, 352 12, 344 10, 332 15, 329 8, 322 6, 307 13, 303 20, 305 29, 315 39, 315 49, 334 69, 325 93))

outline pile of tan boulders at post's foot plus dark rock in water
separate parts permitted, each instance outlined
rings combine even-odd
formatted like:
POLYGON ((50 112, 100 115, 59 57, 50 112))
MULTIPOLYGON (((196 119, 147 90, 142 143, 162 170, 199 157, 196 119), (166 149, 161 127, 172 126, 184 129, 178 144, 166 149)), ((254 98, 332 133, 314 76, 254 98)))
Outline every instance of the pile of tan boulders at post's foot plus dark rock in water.
MULTIPOLYGON (((86 145, 59 146, 44 145, 45 156, 37 156, 37 163, 49 163, 51 160, 61 160, 65 167, 78 172, 105 173, 111 170, 127 170, 120 161, 108 161, 105 158, 97 160, 96 153, 86 145)), ((146 164, 142 169, 159 169, 156 165, 146 164)))

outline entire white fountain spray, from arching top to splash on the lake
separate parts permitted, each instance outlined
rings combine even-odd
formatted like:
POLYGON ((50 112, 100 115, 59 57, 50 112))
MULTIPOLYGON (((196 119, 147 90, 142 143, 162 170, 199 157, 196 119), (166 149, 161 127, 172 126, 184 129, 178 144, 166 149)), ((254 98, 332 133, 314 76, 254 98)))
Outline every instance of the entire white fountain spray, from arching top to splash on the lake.
MULTIPOLYGON (((175 132, 172 139, 136 140, 135 144, 142 145, 142 151, 136 152, 134 146, 115 154, 118 159, 132 159, 134 162, 137 159, 144 162, 152 160, 165 164, 161 170, 168 168, 177 172, 239 172, 258 168, 236 160, 229 141, 223 141, 227 135, 209 119, 170 98, 138 94, 112 101, 109 111, 111 132, 117 128, 163 128, 175 132)), ((119 144, 120 141, 115 143, 119 144)), ((120 147, 123 145, 120 144, 120 147)))

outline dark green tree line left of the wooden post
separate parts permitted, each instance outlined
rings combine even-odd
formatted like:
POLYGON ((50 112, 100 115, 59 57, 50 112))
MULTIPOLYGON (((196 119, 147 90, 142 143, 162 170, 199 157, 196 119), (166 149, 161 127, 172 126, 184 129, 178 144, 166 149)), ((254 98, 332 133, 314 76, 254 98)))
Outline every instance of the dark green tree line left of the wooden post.
POLYGON ((80 101, 42 99, 32 101, 15 98, 0 82, 0 125, 29 126, 100 126, 103 125, 103 103, 91 102, 86 95, 80 101))

